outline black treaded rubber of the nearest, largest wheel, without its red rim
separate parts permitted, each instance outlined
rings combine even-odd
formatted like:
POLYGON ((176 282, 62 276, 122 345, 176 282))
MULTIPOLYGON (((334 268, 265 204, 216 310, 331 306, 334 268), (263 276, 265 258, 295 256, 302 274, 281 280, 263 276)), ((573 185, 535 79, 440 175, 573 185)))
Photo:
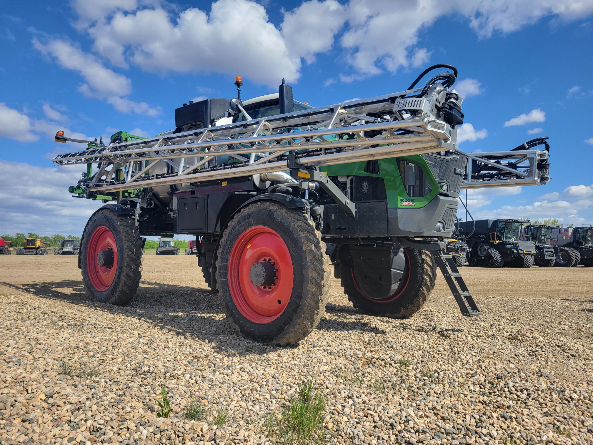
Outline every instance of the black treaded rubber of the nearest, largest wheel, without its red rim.
MULTIPOLYGON (((320 233, 315 231, 305 215, 272 201, 255 202, 248 205, 229 222, 218 247, 215 278, 222 309, 227 313, 227 319, 231 325, 247 338, 279 346, 294 345, 309 335, 320 322, 329 300, 329 258, 321 247, 320 233), (270 221, 270 224, 273 222, 282 228, 285 231, 280 234, 283 239, 290 238, 286 245, 291 255, 302 255, 304 261, 300 271, 299 265, 295 265, 295 280, 297 274, 301 274, 304 278, 305 288, 302 289, 302 299, 298 306, 297 300, 294 300, 294 306, 291 305, 291 302, 288 303, 279 319, 276 319, 285 319, 285 322, 273 332, 265 334, 267 338, 262 338, 262 330, 258 328, 258 326, 267 325, 248 322, 232 303, 232 297, 228 290, 228 256, 234 243, 235 234, 238 237, 254 225, 264 225, 260 222, 254 223, 253 220, 270 221), (293 312, 287 312, 290 310, 293 312)), ((301 294, 301 291, 294 288, 291 300, 295 297, 298 299, 298 294, 301 294)))

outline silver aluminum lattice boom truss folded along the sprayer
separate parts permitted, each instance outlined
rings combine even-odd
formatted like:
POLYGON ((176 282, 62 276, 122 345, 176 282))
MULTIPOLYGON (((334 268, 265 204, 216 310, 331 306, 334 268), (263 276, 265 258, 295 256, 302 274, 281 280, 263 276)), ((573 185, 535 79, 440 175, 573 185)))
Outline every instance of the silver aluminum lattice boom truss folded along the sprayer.
POLYGON ((474 178, 470 162, 463 188, 542 183, 534 156, 547 156, 547 152, 461 152, 456 145, 457 128, 436 117, 447 89, 437 83, 425 97, 418 97, 422 91, 415 88, 122 144, 91 143, 87 150, 57 155, 53 163, 97 163, 98 171, 82 179, 79 186, 85 193, 106 193, 286 170, 286 155, 291 151, 295 151, 299 164, 321 167, 450 150, 503 171, 502 175, 474 178), (416 96, 405 97, 409 94, 416 96), (520 163, 506 159, 504 165, 489 159, 490 155, 511 153, 524 158, 520 163, 530 163, 531 170, 524 171, 518 167, 520 163), (216 162, 221 156, 233 161, 216 162), (170 173, 150 174, 149 170, 161 162, 169 164, 170 173), (124 172, 119 179, 114 175, 117 169, 124 172))

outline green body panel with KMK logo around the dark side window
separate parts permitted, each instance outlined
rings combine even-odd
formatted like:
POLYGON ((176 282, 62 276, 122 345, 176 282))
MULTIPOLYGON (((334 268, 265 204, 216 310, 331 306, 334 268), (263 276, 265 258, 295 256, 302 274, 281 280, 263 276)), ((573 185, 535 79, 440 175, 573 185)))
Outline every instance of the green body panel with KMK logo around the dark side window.
POLYGON ((431 167, 426 163, 425 158, 422 155, 415 154, 410 156, 400 156, 399 159, 409 161, 411 163, 420 166, 424 171, 425 176, 428 178, 428 182, 431 185, 432 192, 426 196, 415 196, 411 197, 406 194, 406 187, 404 187, 403 179, 397 168, 397 158, 386 158, 380 159, 379 170, 380 174, 366 173, 365 166, 366 161, 353 162, 347 164, 337 164, 334 166, 320 167, 321 171, 327 174, 327 176, 369 176, 369 177, 382 177, 385 182, 385 192, 387 192, 387 206, 390 208, 420 208, 428 204, 439 194, 438 182, 436 182, 435 176, 432 174, 431 167))

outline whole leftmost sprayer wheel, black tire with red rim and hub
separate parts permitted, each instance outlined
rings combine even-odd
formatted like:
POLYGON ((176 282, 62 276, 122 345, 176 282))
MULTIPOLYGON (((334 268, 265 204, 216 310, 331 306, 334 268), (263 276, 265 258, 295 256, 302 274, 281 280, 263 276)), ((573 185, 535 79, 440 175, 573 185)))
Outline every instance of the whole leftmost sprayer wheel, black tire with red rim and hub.
POLYGON ((82 279, 98 303, 124 306, 140 284, 142 239, 131 215, 101 209, 87 222, 82 235, 82 279))

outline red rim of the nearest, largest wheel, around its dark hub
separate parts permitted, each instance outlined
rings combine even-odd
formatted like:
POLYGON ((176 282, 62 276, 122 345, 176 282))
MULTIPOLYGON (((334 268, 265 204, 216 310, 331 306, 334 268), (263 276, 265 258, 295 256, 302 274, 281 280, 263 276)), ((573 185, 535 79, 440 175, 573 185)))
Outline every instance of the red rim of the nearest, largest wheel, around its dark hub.
POLYGON ((228 287, 240 313, 254 323, 266 324, 286 309, 292 294, 294 272, 291 254, 276 231, 257 225, 244 231, 231 249, 228 260, 228 287), (251 282, 254 263, 274 264, 276 279, 263 289, 251 282))

